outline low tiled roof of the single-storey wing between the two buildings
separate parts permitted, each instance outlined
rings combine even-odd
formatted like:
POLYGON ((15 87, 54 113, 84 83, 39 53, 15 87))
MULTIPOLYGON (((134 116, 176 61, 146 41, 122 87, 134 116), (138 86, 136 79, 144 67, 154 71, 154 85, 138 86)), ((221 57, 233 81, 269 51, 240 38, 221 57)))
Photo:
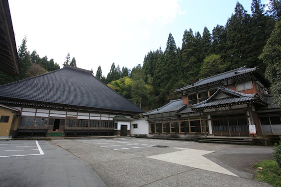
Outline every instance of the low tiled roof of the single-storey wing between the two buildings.
POLYGON ((174 112, 182 109, 183 107, 186 107, 187 105, 183 104, 183 99, 177 99, 172 100, 163 107, 160 107, 158 109, 155 109, 153 111, 149 111, 147 113, 144 113, 144 116, 152 115, 152 114, 161 114, 166 112, 174 112))

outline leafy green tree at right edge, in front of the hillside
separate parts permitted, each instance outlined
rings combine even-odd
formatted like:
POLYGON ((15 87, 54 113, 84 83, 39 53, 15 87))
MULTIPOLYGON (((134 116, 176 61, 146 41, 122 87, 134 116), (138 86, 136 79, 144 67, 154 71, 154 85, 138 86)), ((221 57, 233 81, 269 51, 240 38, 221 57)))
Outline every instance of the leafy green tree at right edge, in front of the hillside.
POLYGON ((281 20, 275 28, 260 56, 266 64, 266 78, 271 81, 270 91, 275 103, 281 107, 281 20))

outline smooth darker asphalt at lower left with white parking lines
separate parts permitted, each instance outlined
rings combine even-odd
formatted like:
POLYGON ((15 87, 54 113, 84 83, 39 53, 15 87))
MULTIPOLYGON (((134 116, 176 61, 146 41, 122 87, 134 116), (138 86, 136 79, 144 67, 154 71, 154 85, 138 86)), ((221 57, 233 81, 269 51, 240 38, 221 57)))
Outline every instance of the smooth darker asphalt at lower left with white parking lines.
MULTIPOLYGON (((8 143, 18 144, 19 141, 8 143)), ((34 141, 30 143, 32 146, 34 141)), ((1 187, 106 187, 89 163, 49 141, 38 141, 38 144, 44 155, 39 151, 36 152, 37 155, 31 155, 35 151, 32 150, 33 152, 24 151, 24 154, 30 154, 27 156, 0 158, 1 187)), ((13 154, 7 151, 5 153, 13 154)))

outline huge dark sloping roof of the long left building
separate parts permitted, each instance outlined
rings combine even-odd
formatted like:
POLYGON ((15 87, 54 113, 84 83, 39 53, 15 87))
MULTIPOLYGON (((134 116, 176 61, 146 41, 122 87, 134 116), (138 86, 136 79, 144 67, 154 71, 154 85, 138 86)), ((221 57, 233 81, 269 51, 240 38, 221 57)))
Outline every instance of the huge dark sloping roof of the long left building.
POLYGON ((96 79, 89 71, 73 67, 1 85, 0 98, 131 113, 143 112, 96 79))

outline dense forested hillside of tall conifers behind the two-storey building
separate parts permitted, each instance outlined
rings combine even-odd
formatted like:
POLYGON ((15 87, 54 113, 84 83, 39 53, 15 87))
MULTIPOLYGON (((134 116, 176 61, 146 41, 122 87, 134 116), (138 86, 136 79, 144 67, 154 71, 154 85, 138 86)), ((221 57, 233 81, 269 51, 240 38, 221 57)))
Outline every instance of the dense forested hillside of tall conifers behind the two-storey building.
POLYGON ((140 69, 138 81, 143 86, 137 94, 142 95, 142 100, 135 99, 136 93, 132 93, 136 92, 131 86, 133 70, 132 80, 121 78, 108 85, 147 111, 181 98, 175 93, 176 88, 204 77, 244 65, 258 66, 265 72, 266 64, 259 56, 280 15, 280 0, 270 0, 267 11, 261 0, 253 0, 251 13, 237 2, 224 26, 217 25, 211 32, 205 27, 202 34, 187 29, 181 47, 176 46, 170 33, 164 51, 160 48, 145 55, 143 66, 133 68, 140 69))

